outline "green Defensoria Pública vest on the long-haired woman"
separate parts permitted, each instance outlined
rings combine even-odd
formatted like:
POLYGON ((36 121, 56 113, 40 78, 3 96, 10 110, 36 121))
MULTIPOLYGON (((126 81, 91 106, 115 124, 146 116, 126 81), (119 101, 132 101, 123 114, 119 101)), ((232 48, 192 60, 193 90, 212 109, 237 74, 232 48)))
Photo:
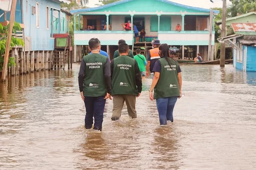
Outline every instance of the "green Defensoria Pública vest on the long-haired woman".
POLYGON ((171 58, 169 58, 171 65, 168 64, 165 58, 161 58, 159 61, 161 62, 161 72, 154 88, 154 99, 180 96, 178 62, 171 58))

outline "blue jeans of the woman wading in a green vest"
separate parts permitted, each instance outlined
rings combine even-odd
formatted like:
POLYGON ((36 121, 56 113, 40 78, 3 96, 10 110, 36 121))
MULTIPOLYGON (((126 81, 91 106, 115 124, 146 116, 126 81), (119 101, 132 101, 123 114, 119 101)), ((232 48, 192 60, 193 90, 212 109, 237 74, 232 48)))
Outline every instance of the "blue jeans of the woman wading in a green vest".
POLYGON ((157 99, 157 110, 160 125, 167 125, 167 120, 173 122, 173 109, 178 97, 163 97, 157 99))

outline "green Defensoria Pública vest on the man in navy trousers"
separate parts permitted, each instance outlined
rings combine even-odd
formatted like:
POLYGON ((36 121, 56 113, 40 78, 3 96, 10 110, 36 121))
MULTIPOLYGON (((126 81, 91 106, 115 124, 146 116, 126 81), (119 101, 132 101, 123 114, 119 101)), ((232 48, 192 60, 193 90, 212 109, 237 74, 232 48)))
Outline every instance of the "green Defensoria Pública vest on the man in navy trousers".
POLYGON ((90 54, 83 57, 85 62, 84 73, 84 96, 105 96, 107 87, 104 81, 104 65, 106 56, 101 54, 90 54))

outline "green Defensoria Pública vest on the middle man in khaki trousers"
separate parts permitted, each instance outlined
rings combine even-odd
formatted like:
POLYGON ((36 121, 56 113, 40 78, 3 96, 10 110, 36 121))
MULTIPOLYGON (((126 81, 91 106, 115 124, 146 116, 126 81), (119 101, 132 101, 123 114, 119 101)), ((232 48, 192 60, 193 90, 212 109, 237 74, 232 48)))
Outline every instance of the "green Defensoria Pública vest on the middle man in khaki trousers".
POLYGON ((135 59, 128 56, 120 56, 114 59, 111 95, 139 95, 135 82, 134 65, 135 59))

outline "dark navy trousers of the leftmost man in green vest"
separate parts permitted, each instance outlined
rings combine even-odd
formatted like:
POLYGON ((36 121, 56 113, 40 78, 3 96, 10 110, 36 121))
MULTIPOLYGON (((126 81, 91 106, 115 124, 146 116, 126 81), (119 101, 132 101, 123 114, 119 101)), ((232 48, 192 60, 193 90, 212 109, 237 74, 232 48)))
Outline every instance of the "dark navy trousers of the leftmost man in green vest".
POLYGON ((102 130, 103 112, 105 108, 106 99, 105 96, 99 97, 88 97, 84 96, 84 105, 86 109, 85 114, 85 128, 90 129, 93 126, 94 116, 94 127, 93 129, 102 130))

